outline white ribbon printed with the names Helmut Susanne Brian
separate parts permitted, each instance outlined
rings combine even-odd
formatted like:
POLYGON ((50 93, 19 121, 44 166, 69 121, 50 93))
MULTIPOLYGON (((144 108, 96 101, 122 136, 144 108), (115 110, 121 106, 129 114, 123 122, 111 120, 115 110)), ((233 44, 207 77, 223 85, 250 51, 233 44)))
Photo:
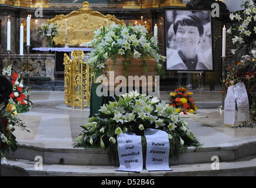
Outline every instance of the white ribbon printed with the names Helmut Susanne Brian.
POLYGON ((168 134, 162 130, 147 129, 144 135, 147 139, 146 169, 148 171, 171 171, 168 134))

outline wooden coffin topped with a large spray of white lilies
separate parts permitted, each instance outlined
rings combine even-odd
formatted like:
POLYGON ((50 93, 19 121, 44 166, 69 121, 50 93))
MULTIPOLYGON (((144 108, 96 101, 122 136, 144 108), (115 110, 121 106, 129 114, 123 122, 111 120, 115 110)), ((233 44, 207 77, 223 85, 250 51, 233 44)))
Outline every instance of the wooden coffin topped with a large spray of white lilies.
POLYGON ((94 33, 94 40, 88 43, 92 47, 88 64, 95 78, 108 77, 110 70, 115 70, 115 76, 154 75, 154 70, 163 72, 161 62, 166 58, 159 54, 157 38, 149 35, 144 25, 112 24, 94 33))

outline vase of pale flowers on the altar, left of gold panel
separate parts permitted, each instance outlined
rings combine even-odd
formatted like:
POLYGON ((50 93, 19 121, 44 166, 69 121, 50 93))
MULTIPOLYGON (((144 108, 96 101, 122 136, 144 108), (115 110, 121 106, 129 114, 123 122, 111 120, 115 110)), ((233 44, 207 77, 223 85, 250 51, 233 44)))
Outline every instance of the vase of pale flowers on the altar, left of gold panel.
POLYGON ((39 27, 38 32, 46 36, 48 47, 52 47, 52 39, 58 35, 59 25, 54 23, 45 23, 39 27))

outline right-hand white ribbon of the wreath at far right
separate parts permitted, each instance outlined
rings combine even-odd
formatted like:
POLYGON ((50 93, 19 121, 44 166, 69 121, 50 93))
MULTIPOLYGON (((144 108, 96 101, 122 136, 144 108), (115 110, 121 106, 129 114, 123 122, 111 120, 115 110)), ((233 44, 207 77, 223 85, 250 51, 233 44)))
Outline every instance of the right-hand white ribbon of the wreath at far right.
POLYGON ((237 98, 238 122, 246 122, 249 119, 250 106, 244 83, 234 85, 235 98, 237 98))

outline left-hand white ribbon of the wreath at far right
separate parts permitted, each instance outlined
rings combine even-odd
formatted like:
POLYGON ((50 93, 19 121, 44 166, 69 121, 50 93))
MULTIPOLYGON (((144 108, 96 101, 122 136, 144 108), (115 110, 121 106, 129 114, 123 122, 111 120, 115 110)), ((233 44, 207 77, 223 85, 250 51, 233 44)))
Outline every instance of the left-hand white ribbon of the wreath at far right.
POLYGON ((233 86, 228 87, 224 103, 224 125, 234 126, 235 123, 235 93, 233 86))

